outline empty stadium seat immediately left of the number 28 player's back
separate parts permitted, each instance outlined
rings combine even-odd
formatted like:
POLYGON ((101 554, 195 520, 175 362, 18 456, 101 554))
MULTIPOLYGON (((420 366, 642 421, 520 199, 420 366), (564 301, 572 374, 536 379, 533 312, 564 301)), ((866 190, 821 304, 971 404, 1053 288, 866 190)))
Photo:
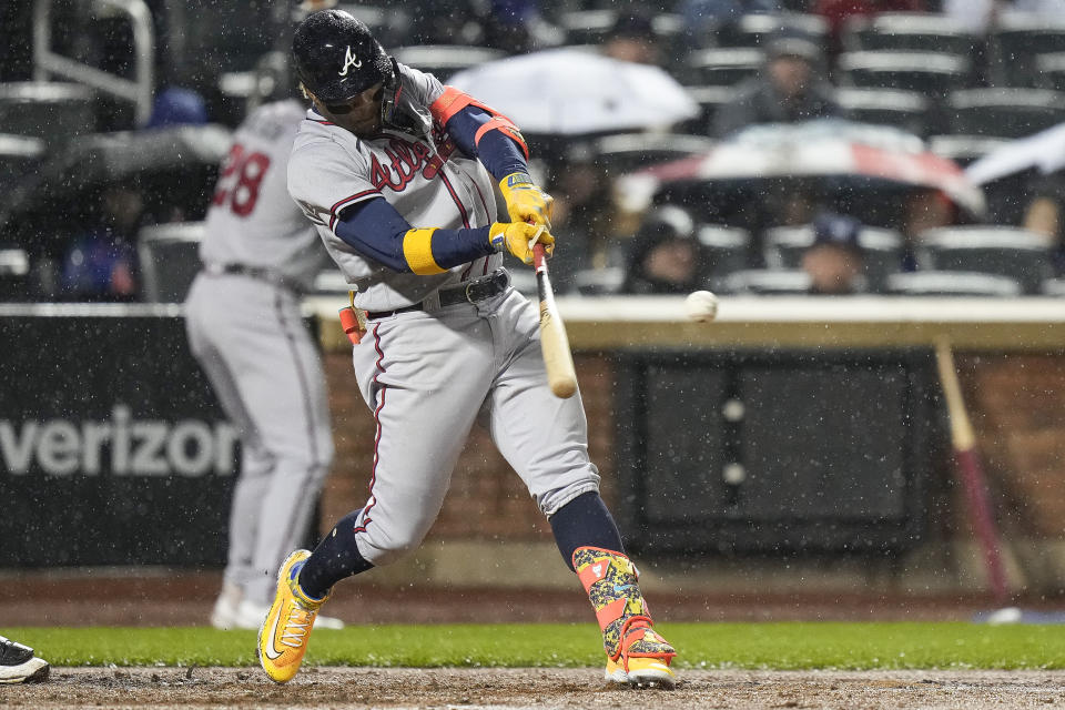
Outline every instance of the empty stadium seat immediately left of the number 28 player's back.
POLYGON ((200 271, 202 222, 145 226, 138 234, 143 300, 182 303, 200 271))

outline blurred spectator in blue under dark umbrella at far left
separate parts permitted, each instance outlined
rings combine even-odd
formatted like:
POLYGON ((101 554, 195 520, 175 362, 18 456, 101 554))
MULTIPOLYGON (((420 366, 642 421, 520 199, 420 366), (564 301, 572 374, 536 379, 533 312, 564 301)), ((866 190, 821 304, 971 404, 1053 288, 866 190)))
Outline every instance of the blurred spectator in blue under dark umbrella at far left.
POLYGON ((104 189, 95 226, 77 234, 63 257, 65 301, 133 301, 138 292, 136 233, 144 197, 132 183, 104 189))

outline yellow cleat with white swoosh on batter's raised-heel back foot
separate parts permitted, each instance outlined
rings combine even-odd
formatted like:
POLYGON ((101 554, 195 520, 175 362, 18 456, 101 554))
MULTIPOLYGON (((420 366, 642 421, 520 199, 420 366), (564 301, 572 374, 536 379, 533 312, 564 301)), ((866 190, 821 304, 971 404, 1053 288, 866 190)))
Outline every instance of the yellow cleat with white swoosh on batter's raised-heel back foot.
POLYGON ((258 630, 255 653, 263 670, 276 683, 288 682, 300 670, 307 652, 307 639, 314 628, 318 609, 328 599, 312 599, 303 594, 297 582, 303 561, 311 557, 307 550, 296 550, 277 572, 277 596, 258 630))

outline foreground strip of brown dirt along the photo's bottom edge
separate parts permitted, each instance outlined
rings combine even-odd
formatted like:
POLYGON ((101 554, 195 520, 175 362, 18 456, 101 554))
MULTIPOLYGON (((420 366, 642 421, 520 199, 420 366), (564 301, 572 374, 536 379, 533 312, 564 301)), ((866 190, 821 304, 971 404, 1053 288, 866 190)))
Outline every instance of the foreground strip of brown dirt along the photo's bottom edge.
POLYGON ((677 690, 608 688, 594 669, 304 669, 275 686, 258 669, 58 668, 0 687, 0 707, 34 708, 1048 708, 1065 671, 686 671, 677 690))

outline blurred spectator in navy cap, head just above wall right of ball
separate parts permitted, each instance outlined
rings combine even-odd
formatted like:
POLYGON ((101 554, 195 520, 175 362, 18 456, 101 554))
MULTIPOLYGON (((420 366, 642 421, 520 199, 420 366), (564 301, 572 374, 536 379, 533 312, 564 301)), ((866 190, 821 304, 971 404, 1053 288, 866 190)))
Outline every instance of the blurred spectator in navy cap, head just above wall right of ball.
POLYGON ((802 255, 802 270, 810 275, 810 293, 843 295, 865 290, 862 224, 851 216, 822 212, 813 221, 813 244, 802 255))

